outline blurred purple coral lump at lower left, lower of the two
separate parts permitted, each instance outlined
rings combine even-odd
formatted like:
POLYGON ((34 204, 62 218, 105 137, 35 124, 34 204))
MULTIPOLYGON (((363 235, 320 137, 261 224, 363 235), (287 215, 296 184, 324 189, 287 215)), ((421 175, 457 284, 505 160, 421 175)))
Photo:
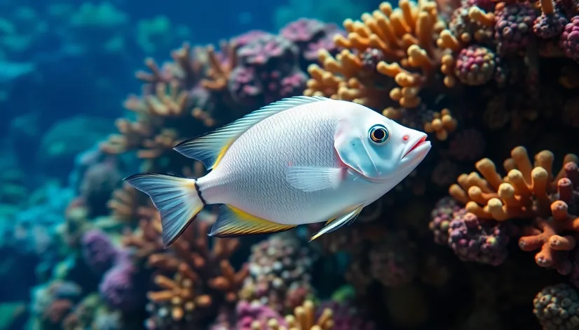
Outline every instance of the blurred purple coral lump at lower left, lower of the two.
POLYGON ((108 306, 123 312, 142 308, 142 296, 135 287, 136 272, 129 262, 120 262, 104 274, 99 291, 108 306))

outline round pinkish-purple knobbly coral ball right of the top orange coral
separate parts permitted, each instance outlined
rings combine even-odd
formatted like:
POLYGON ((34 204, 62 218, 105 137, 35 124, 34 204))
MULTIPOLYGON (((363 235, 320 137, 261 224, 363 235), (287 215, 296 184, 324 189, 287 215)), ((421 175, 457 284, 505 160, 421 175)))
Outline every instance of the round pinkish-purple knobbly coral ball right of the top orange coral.
POLYGON ((454 74, 465 85, 483 85, 494 76, 495 59, 494 53, 489 48, 469 46, 458 53, 454 74))

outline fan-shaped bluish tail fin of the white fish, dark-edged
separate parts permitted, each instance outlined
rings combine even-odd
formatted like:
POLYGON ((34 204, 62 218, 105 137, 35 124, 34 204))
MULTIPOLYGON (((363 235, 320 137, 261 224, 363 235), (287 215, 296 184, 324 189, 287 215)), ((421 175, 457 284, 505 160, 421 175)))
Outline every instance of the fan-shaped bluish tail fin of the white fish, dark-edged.
POLYGON ((161 213, 165 247, 171 245, 182 234, 205 206, 196 179, 140 173, 125 180, 132 187, 149 195, 161 213))

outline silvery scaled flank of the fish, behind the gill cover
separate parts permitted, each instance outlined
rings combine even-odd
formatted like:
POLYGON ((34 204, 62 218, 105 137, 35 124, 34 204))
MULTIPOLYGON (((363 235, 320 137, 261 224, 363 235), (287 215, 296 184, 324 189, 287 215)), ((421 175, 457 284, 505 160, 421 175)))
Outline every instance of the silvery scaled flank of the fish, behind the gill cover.
POLYGON ((322 103, 313 103, 304 110, 285 110, 241 135, 207 178, 219 182, 212 189, 219 189, 215 195, 221 202, 285 224, 303 223, 304 218, 317 220, 315 214, 306 210, 318 208, 320 201, 325 203, 336 196, 301 192, 285 181, 285 175, 290 165, 336 164, 333 136, 339 117, 331 108, 318 106, 322 103), (296 204, 303 207, 292 207, 296 204))

